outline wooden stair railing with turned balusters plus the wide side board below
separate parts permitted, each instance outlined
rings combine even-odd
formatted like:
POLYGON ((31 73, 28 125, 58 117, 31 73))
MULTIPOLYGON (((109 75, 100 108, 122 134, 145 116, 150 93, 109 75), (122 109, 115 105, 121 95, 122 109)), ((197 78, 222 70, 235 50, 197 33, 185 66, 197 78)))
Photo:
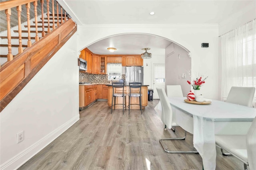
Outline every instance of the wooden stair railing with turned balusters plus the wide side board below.
MULTIPOLYGON (((62 14, 62 8, 60 7, 61 14, 58 14, 57 8, 56 13, 50 14, 49 2, 47 2, 47 20, 49 23, 50 16, 54 19, 57 17, 57 21, 53 20, 53 25, 50 27, 48 24, 47 34, 44 31, 44 13, 43 5, 44 0, 40 0, 42 8, 42 31, 38 31, 38 21, 35 19, 36 36, 30 37, 30 3, 34 4, 34 13, 37 15, 36 6, 37 1, 35 0, 10 0, 0 3, 0 9, 5 10, 6 21, 7 21, 7 39, 8 39, 8 61, 4 63, 0 68, 0 112, 12 101, 12 99, 26 86, 26 84, 36 75, 36 73, 46 64, 50 58, 68 41, 68 39, 76 32, 76 23, 67 17, 66 12, 62 14), (26 5, 27 9, 27 27, 28 37, 22 37, 20 12, 21 6, 26 5), (12 37, 10 31, 10 15, 11 8, 16 8, 18 12, 18 37, 12 37), (59 21, 59 16, 61 21, 59 21), (62 17, 64 19, 62 20, 62 17), (55 25, 56 24, 56 25, 55 25), (42 37, 39 38, 38 33, 41 33, 42 37), (18 38, 19 44, 12 45, 11 39, 18 38), (22 44, 22 38, 28 39, 26 45, 22 44), (35 43, 31 43, 31 39, 35 39, 35 43), (18 55, 13 57, 12 47, 18 47, 18 55), (23 50, 23 47, 27 47, 23 50)), ((52 9, 54 11, 54 0, 52 0, 52 9)), ((57 2, 58 7, 58 2, 57 2)), ((35 17, 37 18, 37 17, 35 17)), ((24 32, 24 30, 23 30, 24 32)), ((1 37, 5 38, 5 37, 1 37)), ((2 55, 2 54, 1 54, 2 55)))

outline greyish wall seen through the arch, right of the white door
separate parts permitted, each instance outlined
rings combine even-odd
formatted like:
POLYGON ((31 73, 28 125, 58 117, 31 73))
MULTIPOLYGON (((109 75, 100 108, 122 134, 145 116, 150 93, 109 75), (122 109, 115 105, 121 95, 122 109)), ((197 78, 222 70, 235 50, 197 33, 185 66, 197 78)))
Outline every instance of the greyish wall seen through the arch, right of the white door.
POLYGON ((165 57, 166 85, 181 85, 183 96, 186 96, 191 89, 187 83, 187 80, 190 81, 188 71, 191 69, 191 58, 188 57, 187 53, 188 51, 184 48, 174 44, 174 53, 165 57), (182 78, 183 73, 186 78, 182 78))

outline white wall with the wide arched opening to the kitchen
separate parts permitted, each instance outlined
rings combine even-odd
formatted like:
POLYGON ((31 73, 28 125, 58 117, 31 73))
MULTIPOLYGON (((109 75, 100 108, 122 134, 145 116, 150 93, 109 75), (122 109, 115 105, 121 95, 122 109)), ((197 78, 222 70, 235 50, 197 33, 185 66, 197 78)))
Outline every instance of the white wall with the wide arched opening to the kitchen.
MULTIPOLYGON (((218 98, 217 24, 78 25, 78 49, 82 50, 100 39, 123 33, 157 35, 186 47, 192 55, 192 71, 206 72, 206 76, 209 76, 204 88, 202 88, 202 94, 207 98, 218 98), (209 43, 209 48, 201 48, 201 43, 209 43)), ((144 66, 145 62, 147 60, 144 60, 144 66)), ((147 69, 146 66, 144 68, 144 77, 145 69, 147 69)), ((149 81, 144 81, 144 84, 149 84, 149 81)))

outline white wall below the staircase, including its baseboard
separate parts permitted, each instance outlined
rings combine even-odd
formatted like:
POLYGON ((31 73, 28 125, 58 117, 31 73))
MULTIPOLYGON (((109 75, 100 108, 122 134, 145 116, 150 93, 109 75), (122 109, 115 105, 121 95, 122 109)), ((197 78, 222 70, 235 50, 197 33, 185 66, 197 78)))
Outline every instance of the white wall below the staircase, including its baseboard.
POLYGON ((79 119, 76 46, 75 34, 1 112, 0 169, 18 168, 79 119))

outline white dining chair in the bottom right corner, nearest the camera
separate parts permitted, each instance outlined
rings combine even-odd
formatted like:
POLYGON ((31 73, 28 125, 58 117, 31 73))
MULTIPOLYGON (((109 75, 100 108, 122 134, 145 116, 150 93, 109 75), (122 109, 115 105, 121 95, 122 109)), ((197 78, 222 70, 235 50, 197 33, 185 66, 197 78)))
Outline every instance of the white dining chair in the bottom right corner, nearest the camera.
POLYGON ((216 146, 244 163, 244 170, 256 170, 256 117, 246 135, 215 135, 216 146))

